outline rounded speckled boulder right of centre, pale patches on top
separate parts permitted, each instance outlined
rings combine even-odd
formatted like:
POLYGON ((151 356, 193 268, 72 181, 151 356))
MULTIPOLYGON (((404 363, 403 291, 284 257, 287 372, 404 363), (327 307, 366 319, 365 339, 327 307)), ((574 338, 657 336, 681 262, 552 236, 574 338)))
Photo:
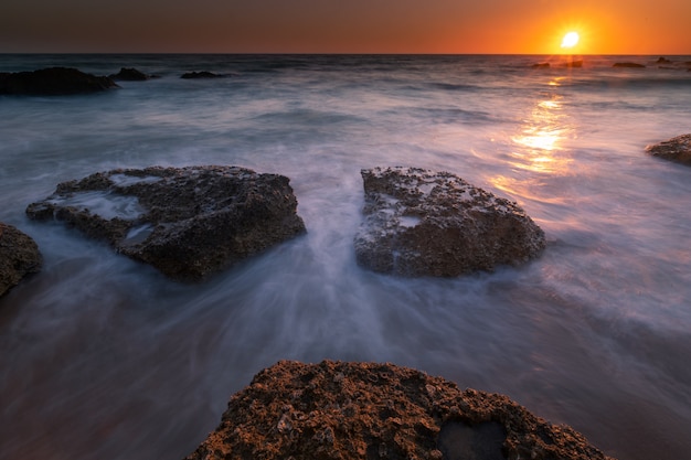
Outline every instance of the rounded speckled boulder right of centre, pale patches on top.
POLYGON ((448 172, 362 170, 364 221, 358 263, 403 276, 453 277, 541 254, 544 232, 515 203, 448 172))

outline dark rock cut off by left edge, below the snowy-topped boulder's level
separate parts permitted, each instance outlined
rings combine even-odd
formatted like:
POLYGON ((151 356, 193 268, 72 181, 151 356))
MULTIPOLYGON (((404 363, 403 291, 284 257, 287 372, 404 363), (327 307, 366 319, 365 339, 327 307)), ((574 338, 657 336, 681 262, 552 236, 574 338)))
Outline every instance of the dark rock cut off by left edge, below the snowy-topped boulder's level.
POLYGON ((43 257, 30 236, 0 222, 0 296, 41 269, 43 257))

